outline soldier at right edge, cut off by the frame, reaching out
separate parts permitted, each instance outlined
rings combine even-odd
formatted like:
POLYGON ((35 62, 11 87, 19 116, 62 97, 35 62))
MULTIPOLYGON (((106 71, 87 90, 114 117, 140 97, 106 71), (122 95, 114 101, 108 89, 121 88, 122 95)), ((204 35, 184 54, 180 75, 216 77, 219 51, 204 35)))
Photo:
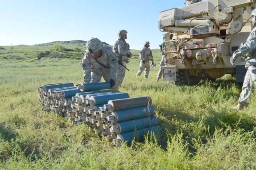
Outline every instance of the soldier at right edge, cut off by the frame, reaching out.
POLYGON ((230 63, 232 65, 234 65, 234 62, 238 57, 244 58, 246 61, 245 67, 248 69, 244 77, 244 84, 238 99, 238 105, 232 107, 236 110, 242 110, 244 109, 244 106, 247 107, 249 105, 247 100, 253 90, 252 82, 256 83, 256 9, 252 11, 251 16, 254 29, 249 34, 244 45, 242 45, 240 49, 236 50, 230 58, 230 63))

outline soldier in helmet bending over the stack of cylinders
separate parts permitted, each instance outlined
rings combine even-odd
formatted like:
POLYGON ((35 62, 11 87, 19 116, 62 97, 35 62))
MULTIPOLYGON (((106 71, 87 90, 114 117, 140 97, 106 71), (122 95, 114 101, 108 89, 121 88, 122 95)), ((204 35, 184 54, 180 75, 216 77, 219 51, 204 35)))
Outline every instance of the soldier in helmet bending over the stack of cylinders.
MULTIPOLYGON (((84 55, 84 81, 90 83, 100 82, 101 77, 110 81, 110 86, 114 87, 116 70, 118 69, 118 58, 111 47, 103 47, 98 38, 91 38, 86 43, 86 54, 84 55), (90 76, 88 74, 91 74, 90 76)), ((115 91, 115 89, 111 89, 115 91)))

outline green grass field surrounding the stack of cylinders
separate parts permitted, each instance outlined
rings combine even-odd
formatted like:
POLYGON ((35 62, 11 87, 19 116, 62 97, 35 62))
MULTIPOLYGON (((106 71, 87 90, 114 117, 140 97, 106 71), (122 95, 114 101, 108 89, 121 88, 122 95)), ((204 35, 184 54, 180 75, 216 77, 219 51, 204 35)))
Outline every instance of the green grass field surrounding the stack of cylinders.
POLYGON ((243 111, 230 109, 237 103, 241 85, 228 75, 194 86, 156 83, 159 50, 152 50, 157 66, 151 67, 148 79, 136 77, 139 59, 138 51, 133 50, 120 91, 130 97, 152 98, 162 134, 116 147, 89 132, 86 125, 72 126, 52 112, 44 112, 38 102, 37 89, 42 84, 82 83, 80 59, 38 60, 36 46, 3 48, 0 169, 256 168, 256 95, 252 93, 251 104, 243 111), (23 59, 12 58, 13 53, 23 59))

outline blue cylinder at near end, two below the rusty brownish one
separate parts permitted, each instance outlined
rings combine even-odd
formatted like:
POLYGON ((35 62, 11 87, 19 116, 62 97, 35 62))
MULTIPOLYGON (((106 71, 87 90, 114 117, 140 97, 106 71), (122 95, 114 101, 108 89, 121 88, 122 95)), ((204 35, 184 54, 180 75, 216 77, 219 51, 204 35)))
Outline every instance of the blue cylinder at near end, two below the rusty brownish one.
POLYGON ((153 127, 158 124, 158 118, 154 117, 144 117, 140 119, 134 119, 130 121, 124 121, 120 123, 115 123, 111 128, 110 132, 115 132, 116 134, 130 132, 140 128, 153 127))

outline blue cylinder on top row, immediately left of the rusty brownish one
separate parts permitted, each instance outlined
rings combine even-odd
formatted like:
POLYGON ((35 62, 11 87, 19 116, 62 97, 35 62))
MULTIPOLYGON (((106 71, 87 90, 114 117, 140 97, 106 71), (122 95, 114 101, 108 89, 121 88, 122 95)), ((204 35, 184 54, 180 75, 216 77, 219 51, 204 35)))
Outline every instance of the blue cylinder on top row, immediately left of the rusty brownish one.
POLYGON ((90 99, 86 101, 86 104, 90 106, 101 105, 101 104, 108 103, 109 100, 126 99, 126 98, 129 98, 128 93, 114 93, 114 94, 91 96, 90 99))

